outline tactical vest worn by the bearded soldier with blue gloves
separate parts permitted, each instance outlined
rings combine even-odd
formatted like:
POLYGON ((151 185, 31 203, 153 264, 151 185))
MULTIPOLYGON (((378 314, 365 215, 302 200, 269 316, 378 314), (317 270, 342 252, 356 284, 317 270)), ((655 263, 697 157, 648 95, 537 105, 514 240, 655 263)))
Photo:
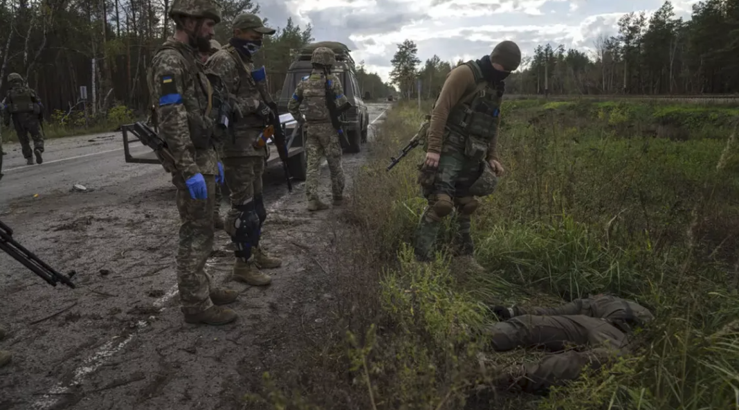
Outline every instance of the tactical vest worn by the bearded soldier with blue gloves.
MULTIPOLYGON (((205 74, 202 65, 199 65, 195 59, 194 54, 183 52, 184 44, 178 44, 174 41, 167 40, 161 45, 154 58, 157 58, 160 52, 163 50, 177 50, 185 63, 185 69, 187 70, 186 75, 190 76, 190 81, 195 93, 195 99, 197 100, 197 107, 188 107, 188 100, 183 99, 185 110, 187 110, 187 121, 188 128, 190 130, 190 139, 192 144, 197 149, 210 149, 215 144, 214 137, 214 118, 213 118, 213 89, 211 83, 208 81, 208 76, 205 74)), ((149 67, 149 90, 154 90, 154 84, 156 79, 153 78, 151 67, 149 67)), ((152 101, 156 101, 152 95, 152 101)), ((158 106, 157 106, 158 107, 158 106)), ((161 115, 157 115, 161 118, 161 115)))

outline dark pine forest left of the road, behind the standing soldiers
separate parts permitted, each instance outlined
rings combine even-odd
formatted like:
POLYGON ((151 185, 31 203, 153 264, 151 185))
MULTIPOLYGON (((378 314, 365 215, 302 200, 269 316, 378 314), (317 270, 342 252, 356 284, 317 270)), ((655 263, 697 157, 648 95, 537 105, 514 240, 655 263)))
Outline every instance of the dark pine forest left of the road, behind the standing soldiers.
MULTIPOLYGON (((216 39, 227 44, 231 21, 239 13, 259 13, 259 4, 220 3, 222 21, 216 39)), ((171 0, 0 0, 0 93, 7 90, 7 75, 19 73, 37 90, 47 115, 85 107, 95 118, 116 105, 143 112, 149 104, 146 71, 151 58, 174 33, 166 12, 170 4, 171 0)), ((288 19, 276 28, 256 56, 257 67, 265 65, 272 93, 282 88, 293 57, 290 50, 314 41, 310 24, 300 27, 288 19)), ((379 77, 362 73, 374 87, 372 75, 379 77)))

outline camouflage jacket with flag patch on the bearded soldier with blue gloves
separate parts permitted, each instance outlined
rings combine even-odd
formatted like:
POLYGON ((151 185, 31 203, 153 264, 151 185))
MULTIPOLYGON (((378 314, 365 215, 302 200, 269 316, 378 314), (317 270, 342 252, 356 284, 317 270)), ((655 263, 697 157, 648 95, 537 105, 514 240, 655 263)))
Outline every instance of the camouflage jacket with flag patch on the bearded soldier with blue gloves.
POLYGON ((147 81, 158 118, 159 135, 185 179, 218 173, 211 119, 211 84, 197 51, 168 38, 151 61, 147 81))

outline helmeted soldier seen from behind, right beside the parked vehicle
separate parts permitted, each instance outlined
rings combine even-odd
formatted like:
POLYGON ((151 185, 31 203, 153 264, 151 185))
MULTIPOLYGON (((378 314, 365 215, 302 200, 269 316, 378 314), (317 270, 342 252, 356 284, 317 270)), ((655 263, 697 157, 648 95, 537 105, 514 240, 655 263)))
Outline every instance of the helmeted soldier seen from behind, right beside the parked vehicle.
POLYGON ((324 75, 324 68, 330 70, 336 64, 333 50, 327 47, 318 47, 313 50, 310 58, 313 71, 298 83, 293 98, 287 104, 287 110, 300 123, 307 122, 307 175, 305 178, 305 194, 308 199, 308 210, 318 211, 327 209, 328 205, 319 198, 319 178, 321 176, 321 159, 324 155, 331 172, 331 192, 333 205, 341 206, 344 202, 344 169, 341 168, 341 142, 338 132, 331 124, 328 107, 326 105, 326 82, 328 81, 333 95, 336 98, 336 107, 347 102, 341 81, 336 75, 324 75), (300 105, 305 103, 301 112, 300 105))

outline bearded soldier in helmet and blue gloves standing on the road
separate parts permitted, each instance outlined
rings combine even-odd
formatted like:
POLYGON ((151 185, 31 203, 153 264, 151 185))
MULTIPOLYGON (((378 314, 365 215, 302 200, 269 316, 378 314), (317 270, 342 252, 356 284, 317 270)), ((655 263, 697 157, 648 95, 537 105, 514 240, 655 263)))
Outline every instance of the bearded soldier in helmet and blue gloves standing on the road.
POLYGON ((210 48, 220 6, 214 0, 174 0, 169 16, 176 30, 154 54, 148 80, 160 136, 174 157, 170 170, 182 221, 177 284, 185 322, 222 325, 236 320, 236 313, 219 305, 234 302, 238 293, 217 288, 205 272, 214 238, 214 185, 223 176, 213 136, 213 89, 197 56, 210 48))

